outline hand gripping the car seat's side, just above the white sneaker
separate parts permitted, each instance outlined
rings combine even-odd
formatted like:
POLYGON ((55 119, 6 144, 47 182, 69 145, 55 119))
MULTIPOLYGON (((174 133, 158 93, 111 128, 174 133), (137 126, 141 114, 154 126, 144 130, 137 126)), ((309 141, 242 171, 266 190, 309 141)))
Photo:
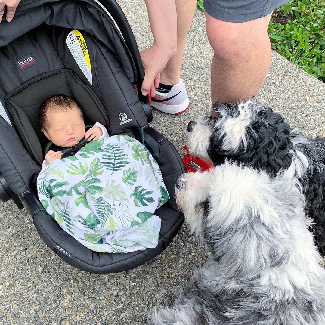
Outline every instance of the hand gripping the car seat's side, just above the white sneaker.
POLYGON ((151 47, 140 52, 145 75, 142 82, 142 95, 156 95, 156 88, 160 83, 160 72, 165 68, 172 53, 164 52, 154 43, 151 47))

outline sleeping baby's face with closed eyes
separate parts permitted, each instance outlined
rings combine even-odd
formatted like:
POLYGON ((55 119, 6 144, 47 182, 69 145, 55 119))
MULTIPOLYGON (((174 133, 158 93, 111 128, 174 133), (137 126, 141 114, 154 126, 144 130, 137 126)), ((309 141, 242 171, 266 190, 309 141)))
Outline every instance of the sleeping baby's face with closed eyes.
POLYGON ((66 111, 49 110, 46 117, 48 129, 43 132, 57 146, 71 147, 85 136, 85 122, 77 107, 66 111))

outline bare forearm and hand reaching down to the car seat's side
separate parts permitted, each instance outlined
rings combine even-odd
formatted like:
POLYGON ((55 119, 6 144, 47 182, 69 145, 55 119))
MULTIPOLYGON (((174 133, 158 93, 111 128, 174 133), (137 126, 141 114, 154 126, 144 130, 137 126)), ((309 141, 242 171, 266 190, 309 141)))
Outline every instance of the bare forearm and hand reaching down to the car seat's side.
POLYGON ((160 72, 177 52, 177 15, 175 0, 145 0, 154 43, 141 51, 145 69, 142 94, 155 96, 160 72))

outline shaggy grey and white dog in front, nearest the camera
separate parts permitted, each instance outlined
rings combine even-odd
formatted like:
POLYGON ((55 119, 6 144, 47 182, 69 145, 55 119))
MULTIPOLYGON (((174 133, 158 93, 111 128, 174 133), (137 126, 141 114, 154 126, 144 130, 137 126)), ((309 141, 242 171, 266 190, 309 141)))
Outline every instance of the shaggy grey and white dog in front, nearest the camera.
POLYGON ((325 270, 294 178, 225 162, 183 174, 175 193, 213 259, 150 325, 325 324, 325 270))

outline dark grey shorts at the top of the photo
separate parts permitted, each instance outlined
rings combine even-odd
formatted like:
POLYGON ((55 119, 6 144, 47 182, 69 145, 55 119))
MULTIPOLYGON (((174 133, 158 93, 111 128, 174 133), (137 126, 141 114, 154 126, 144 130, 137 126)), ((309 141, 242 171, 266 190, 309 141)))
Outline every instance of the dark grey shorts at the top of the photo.
POLYGON ((231 22, 244 22, 270 14, 289 0, 204 0, 205 11, 212 17, 231 22))

